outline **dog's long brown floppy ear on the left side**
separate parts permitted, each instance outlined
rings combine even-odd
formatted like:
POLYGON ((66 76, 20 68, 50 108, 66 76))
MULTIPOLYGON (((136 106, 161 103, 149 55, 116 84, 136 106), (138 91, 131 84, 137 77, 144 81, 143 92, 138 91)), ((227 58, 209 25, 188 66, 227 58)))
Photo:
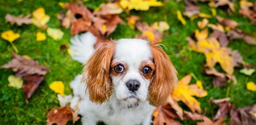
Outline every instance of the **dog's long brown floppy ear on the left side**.
POLYGON ((106 42, 98 46, 85 63, 83 81, 92 102, 102 103, 111 95, 110 63, 114 56, 115 43, 106 42))

